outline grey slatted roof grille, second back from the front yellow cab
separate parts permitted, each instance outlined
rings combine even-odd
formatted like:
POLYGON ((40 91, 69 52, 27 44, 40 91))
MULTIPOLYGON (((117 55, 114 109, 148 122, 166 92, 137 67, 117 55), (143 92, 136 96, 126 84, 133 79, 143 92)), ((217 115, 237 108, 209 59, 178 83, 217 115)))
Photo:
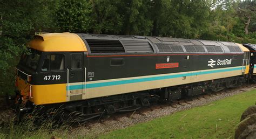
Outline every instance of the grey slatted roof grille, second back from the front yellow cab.
POLYGON ((153 53, 153 48, 148 41, 122 40, 127 53, 153 53))

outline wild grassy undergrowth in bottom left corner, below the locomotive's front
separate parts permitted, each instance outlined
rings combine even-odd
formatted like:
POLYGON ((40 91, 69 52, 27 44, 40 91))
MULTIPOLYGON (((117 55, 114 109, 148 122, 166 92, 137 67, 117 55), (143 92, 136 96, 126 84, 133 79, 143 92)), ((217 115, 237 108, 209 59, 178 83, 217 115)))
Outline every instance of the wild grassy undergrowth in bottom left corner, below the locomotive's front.
MULTIPOLYGON (((40 110, 40 109, 39 109, 40 110)), ((5 115, 0 121, 0 138, 51 138, 68 136, 72 125, 77 123, 79 117, 74 114, 65 115, 62 108, 48 110, 52 115, 39 113, 34 110, 32 113, 23 115, 20 122, 17 122, 15 115, 5 115)))

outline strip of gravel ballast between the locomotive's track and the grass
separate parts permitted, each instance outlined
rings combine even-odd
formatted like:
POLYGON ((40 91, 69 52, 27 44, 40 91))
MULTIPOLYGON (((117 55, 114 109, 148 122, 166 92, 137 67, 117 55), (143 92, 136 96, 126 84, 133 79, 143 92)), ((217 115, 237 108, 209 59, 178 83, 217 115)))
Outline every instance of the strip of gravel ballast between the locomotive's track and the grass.
POLYGON ((105 134, 111 130, 123 129, 126 127, 133 126, 134 124, 151 121, 161 116, 170 115, 174 112, 179 112, 181 110, 190 109, 193 107, 203 106, 207 103, 224 99, 235 94, 241 94, 246 91, 255 89, 254 86, 241 87, 236 89, 231 89, 228 91, 220 92, 217 95, 212 95, 209 97, 200 97, 199 99, 194 99, 189 103, 183 103, 182 105, 175 105, 175 107, 164 107, 160 109, 154 109, 152 111, 144 112, 142 114, 133 114, 131 117, 120 117, 117 120, 102 120, 98 123, 89 124, 89 126, 80 126, 73 128, 70 133, 70 137, 76 136, 86 136, 86 137, 97 137, 99 134, 105 134))

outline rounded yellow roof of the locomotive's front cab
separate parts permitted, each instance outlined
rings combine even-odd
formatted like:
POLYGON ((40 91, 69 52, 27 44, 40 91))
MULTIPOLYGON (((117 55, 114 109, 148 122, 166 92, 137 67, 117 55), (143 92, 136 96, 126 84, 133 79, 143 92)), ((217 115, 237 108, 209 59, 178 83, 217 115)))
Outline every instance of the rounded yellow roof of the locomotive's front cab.
POLYGON ((87 51, 83 40, 75 33, 45 33, 34 37, 29 47, 43 52, 87 51))

